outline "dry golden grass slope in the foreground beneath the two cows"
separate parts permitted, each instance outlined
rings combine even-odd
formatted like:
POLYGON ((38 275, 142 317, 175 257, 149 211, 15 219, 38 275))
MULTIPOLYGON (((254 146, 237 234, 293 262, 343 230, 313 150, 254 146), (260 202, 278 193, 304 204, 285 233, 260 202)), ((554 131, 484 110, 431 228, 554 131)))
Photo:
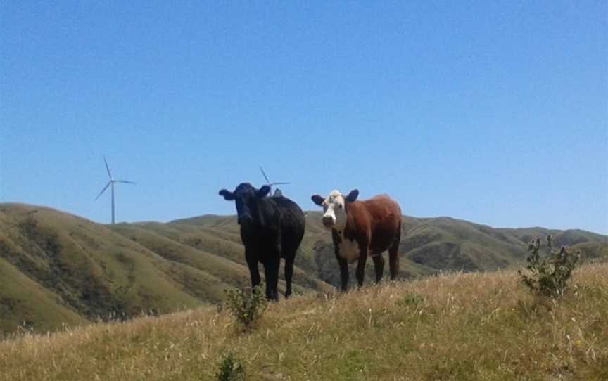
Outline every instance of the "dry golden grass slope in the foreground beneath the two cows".
POLYGON ((608 265, 552 302, 517 273, 456 273, 272 304, 241 332, 203 308, 0 342, 0 380, 608 380, 608 265))

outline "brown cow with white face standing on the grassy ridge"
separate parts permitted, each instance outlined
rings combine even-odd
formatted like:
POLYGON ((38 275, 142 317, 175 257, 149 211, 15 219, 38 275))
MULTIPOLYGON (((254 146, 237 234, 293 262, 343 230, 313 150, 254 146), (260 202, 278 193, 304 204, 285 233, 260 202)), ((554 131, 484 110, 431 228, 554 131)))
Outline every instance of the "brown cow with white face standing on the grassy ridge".
POLYGON ((357 201, 359 191, 347 196, 332 191, 327 198, 313 195, 312 202, 322 206, 323 225, 331 230, 334 253, 340 266, 342 290, 348 288, 348 263, 357 263, 357 282, 363 284, 365 261, 369 254, 374 260, 376 283, 384 272, 382 253, 388 249, 388 266, 391 279, 399 269, 397 250, 401 239, 401 209, 388 195, 377 195, 369 200, 357 201))

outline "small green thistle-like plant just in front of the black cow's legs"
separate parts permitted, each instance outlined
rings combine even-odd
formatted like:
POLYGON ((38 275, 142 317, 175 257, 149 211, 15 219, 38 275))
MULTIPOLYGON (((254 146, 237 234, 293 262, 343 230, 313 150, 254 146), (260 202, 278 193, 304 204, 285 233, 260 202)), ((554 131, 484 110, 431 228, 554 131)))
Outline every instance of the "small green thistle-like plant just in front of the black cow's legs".
POLYGON ((236 321, 244 328, 251 328, 267 307, 267 299, 258 287, 243 290, 226 290, 226 305, 236 321))

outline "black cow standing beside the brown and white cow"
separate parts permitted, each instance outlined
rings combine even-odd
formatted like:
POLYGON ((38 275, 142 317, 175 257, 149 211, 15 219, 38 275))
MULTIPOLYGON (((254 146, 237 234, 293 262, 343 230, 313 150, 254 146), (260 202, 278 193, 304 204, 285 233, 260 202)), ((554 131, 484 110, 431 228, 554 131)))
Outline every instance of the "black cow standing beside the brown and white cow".
POLYGON ((285 297, 289 297, 293 259, 304 236, 305 219, 302 209, 295 202, 283 196, 266 197, 268 192, 270 186, 255 189, 250 183, 241 183, 234 192, 222 189, 220 195, 225 200, 236 202, 251 285, 255 287, 260 284, 260 261, 264 264, 266 297, 279 299, 277 283, 281 257, 285 259, 285 297))

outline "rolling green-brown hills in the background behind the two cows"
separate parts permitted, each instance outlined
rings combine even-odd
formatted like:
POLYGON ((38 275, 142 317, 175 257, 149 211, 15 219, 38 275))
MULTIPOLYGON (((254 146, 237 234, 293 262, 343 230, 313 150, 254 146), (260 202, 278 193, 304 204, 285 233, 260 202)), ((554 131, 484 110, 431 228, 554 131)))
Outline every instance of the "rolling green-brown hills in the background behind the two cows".
MULTIPOLYGON (((306 217, 295 292, 339 283, 320 216, 306 217)), ((403 217, 400 277, 521 266, 528 241, 547 234, 556 247, 580 250, 585 261, 608 259, 608 236, 588 231, 403 217)), ((369 284, 372 261, 367 271, 369 284)), ((47 207, 0 204, 0 335, 188 309, 221 302, 223 290, 248 285, 235 216, 111 226, 47 207)))

